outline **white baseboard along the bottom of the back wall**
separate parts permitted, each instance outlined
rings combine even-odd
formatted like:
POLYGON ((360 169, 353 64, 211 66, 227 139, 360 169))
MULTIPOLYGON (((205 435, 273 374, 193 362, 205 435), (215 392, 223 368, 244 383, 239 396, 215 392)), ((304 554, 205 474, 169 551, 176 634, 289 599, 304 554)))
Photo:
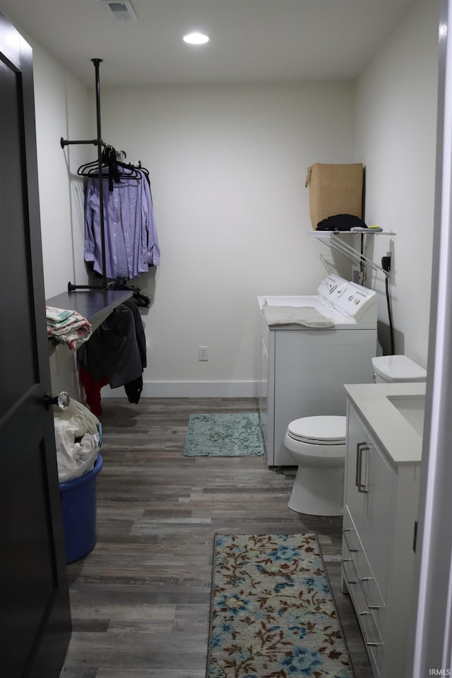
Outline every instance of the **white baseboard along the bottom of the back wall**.
MULTIPOLYGON (((258 381, 145 381, 141 398, 257 398, 258 381)), ((104 386, 102 398, 126 398, 124 386, 104 386)))

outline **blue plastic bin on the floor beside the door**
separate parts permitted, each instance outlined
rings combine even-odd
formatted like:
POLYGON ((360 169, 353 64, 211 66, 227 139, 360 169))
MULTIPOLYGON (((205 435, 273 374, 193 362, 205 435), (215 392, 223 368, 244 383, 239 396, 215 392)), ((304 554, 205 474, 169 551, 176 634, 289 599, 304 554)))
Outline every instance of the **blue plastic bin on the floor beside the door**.
POLYGON ((92 470, 59 485, 66 563, 82 558, 96 543, 96 477, 102 466, 97 453, 92 470))

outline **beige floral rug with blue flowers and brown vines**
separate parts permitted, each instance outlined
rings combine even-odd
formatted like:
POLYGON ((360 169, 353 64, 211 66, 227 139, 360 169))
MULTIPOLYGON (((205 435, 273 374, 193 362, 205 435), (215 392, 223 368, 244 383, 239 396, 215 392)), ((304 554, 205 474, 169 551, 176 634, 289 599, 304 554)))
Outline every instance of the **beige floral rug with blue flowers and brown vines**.
POLYGON ((206 678, 352 678, 316 535, 216 535, 206 678))

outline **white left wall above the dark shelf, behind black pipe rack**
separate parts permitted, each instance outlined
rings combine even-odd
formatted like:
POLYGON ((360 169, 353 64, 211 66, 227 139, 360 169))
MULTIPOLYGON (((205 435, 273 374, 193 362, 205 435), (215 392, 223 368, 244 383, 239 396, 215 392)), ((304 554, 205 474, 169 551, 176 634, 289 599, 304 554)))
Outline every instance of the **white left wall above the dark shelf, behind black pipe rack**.
MULTIPOLYGON (((45 295, 83 285, 83 182, 77 167, 87 151, 61 148, 60 138, 95 138, 88 89, 57 64, 39 44, 32 44, 35 78, 37 165, 40 186, 45 295)), ((90 153, 95 156, 95 147, 90 153)))

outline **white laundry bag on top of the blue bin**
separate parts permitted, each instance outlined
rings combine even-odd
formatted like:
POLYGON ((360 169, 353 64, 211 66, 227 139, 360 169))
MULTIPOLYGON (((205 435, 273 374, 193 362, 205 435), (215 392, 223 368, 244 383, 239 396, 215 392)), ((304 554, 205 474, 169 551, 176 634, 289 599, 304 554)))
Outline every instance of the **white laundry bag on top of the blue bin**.
POLYGON ((66 410, 54 411, 59 482, 93 469, 102 444, 102 425, 84 405, 71 398, 66 410))

